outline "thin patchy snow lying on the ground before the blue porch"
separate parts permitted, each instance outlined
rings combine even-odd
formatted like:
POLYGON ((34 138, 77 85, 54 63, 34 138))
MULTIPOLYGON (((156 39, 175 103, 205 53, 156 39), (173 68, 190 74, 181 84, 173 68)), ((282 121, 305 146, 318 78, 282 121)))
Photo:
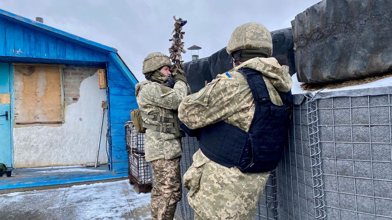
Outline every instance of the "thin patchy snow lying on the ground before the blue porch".
POLYGON ((137 194, 128 180, 75 185, 66 188, 26 191, 0 195, 0 203, 26 204, 33 198, 35 203, 45 203, 45 210, 72 210, 72 219, 151 219, 151 194, 137 194), (5 200, 2 200, 2 199, 5 200), (36 198, 36 199, 34 199, 36 198), (39 200, 39 201, 37 201, 39 200), (52 202, 51 202, 52 201, 52 202), (139 215, 135 215, 139 214, 139 215))

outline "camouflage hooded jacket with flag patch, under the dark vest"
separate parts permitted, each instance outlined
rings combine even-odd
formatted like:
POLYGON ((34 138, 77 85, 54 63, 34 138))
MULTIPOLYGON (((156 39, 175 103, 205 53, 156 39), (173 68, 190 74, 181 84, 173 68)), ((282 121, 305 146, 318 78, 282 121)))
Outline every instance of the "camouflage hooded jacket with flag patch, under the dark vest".
POLYGON ((255 103, 247 80, 236 71, 241 67, 261 72, 272 102, 283 104, 277 91, 291 89, 288 67, 280 66, 275 58, 254 58, 230 70, 230 78, 219 74, 199 92, 185 97, 179 107, 180 120, 191 129, 224 120, 248 131, 255 103))

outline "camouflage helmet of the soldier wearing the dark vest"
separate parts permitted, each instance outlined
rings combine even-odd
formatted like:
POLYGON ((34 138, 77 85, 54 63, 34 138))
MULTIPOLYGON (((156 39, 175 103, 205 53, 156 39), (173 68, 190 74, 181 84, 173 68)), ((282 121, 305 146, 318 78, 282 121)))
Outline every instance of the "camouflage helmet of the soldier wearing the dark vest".
POLYGON ((232 54, 240 49, 265 48, 272 55, 271 33, 264 25, 256 22, 244 23, 231 34, 226 51, 232 54))

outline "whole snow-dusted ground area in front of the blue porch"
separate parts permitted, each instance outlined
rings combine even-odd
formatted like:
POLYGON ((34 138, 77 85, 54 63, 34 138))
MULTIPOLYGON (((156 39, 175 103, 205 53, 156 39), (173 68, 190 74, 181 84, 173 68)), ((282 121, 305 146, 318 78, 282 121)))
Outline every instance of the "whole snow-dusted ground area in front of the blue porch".
POLYGON ((0 219, 151 219, 128 180, 0 195, 0 219))

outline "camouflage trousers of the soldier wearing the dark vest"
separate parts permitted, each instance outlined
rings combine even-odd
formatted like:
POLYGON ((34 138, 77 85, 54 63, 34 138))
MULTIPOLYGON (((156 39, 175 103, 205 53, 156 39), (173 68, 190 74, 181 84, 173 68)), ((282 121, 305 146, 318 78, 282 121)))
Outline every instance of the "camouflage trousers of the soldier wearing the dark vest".
POLYGON ((269 173, 245 174, 213 162, 197 151, 184 174, 194 219, 253 220, 269 173))

